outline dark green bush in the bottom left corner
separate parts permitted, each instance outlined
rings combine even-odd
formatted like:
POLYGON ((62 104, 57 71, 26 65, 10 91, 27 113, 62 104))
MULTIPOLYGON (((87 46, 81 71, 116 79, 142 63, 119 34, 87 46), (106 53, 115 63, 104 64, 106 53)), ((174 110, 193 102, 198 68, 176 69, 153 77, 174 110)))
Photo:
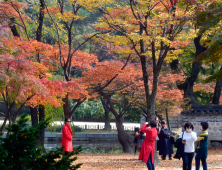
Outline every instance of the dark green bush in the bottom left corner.
POLYGON ((81 146, 68 155, 63 156, 63 148, 57 148, 47 154, 36 148, 40 129, 49 124, 49 119, 41 121, 33 127, 27 127, 27 116, 21 115, 17 124, 10 125, 11 133, 7 138, 0 137, 0 169, 4 170, 68 170, 78 169, 82 164, 71 165, 77 157, 70 158, 81 152, 81 146))

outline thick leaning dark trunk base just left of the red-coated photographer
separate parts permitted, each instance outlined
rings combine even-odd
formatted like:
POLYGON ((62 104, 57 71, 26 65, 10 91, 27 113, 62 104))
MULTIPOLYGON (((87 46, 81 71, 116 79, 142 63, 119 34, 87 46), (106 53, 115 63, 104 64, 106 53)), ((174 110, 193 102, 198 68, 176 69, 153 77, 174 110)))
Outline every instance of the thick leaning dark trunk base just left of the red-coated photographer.
POLYGON ((125 130, 122 122, 122 118, 116 118, 116 127, 118 131, 118 141, 123 147, 124 153, 133 153, 133 141, 134 137, 129 135, 125 130))

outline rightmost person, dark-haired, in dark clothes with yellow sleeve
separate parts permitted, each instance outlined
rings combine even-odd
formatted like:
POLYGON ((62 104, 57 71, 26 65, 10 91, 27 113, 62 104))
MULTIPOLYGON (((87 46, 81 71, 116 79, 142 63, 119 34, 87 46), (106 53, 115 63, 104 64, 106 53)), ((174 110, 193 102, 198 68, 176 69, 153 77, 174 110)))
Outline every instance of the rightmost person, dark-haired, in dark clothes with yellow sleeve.
POLYGON ((208 155, 208 123, 201 122, 202 132, 200 136, 197 138, 197 149, 196 149, 196 157, 195 164, 196 170, 200 169, 200 160, 203 165, 203 170, 207 170, 207 155, 208 155))

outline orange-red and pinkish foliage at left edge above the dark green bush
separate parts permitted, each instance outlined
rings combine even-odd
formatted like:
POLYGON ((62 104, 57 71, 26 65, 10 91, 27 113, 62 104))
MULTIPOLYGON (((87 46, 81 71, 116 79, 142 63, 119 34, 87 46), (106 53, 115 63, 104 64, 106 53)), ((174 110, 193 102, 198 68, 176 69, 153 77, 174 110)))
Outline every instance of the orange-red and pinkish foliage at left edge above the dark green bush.
MULTIPOLYGON (((26 102, 33 107, 49 103, 57 107, 67 94, 72 99, 87 96, 85 89, 74 81, 48 79, 50 71, 59 62, 51 45, 14 37, 1 41, 1 50, 0 89, 2 95, 8 95, 6 100, 18 104, 26 102)), ((89 63, 96 62, 97 58, 77 51, 73 61, 75 67, 89 68, 89 63)))

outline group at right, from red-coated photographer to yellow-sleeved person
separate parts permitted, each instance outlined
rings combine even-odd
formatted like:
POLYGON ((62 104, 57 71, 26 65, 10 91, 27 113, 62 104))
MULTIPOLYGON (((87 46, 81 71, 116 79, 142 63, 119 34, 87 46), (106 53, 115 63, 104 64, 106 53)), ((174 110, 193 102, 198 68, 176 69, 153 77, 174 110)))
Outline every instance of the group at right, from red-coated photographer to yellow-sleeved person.
MULTIPOLYGON (((193 124, 190 122, 185 123, 185 131, 180 134, 180 147, 177 148, 177 152, 174 158, 183 160, 183 170, 192 169, 192 160, 195 156, 196 170, 200 169, 200 160, 202 161, 203 170, 207 170, 207 155, 208 155, 208 123, 201 122, 202 132, 197 137, 196 132, 193 132, 193 124), (195 142, 197 141, 197 147, 195 142)), ((147 164, 148 170, 155 170, 154 166, 154 151, 155 141, 157 140, 157 150, 159 155, 162 156, 162 160, 166 160, 166 156, 169 155, 169 160, 172 160, 173 140, 170 130, 166 126, 166 121, 159 123, 158 117, 156 120, 146 122, 142 125, 141 131, 144 132, 145 139, 140 148, 139 160, 142 160, 147 164)))

